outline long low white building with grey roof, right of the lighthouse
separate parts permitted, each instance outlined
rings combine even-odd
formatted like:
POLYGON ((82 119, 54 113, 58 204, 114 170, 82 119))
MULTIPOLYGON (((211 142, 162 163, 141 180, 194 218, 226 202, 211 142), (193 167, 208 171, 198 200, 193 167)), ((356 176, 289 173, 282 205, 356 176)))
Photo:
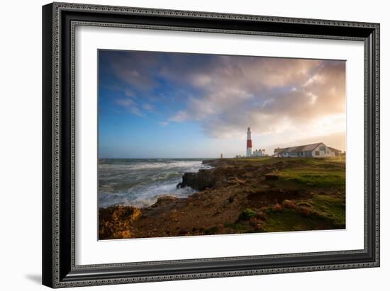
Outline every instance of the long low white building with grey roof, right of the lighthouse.
POLYGON ((305 144, 297 147, 286 147, 274 149, 274 156, 277 157, 313 157, 326 158, 336 156, 340 153, 338 149, 327 147, 323 142, 316 144, 305 144))

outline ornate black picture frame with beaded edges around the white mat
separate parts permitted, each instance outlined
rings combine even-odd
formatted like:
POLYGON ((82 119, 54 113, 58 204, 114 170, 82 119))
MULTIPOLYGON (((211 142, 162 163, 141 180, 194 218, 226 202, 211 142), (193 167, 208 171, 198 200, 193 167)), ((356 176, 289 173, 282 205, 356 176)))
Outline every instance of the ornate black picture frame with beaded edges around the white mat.
POLYGON ((43 6, 43 285, 74 287, 379 266, 379 24, 53 3, 43 6), (74 28, 97 25, 364 42, 364 249, 74 263, 74 28))

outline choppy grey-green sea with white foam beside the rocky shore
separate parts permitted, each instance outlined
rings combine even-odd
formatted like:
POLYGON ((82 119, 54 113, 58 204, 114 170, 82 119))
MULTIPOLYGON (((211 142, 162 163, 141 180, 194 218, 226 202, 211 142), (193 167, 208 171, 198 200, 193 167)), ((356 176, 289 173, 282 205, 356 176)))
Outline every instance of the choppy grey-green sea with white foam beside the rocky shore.
POLYGON ((205 159, 99 159, 99 208, 150 206, 162 195, 186 198, 196 192, 177 188, 186 172, 210 169, 205 159))

